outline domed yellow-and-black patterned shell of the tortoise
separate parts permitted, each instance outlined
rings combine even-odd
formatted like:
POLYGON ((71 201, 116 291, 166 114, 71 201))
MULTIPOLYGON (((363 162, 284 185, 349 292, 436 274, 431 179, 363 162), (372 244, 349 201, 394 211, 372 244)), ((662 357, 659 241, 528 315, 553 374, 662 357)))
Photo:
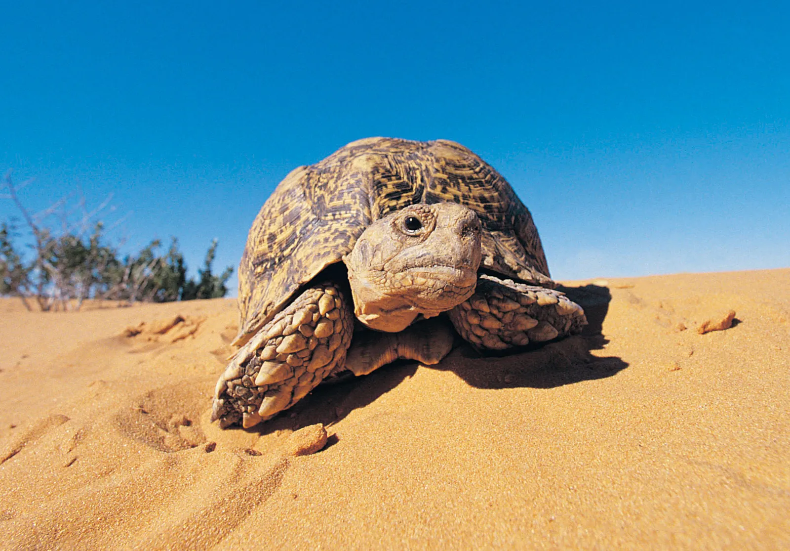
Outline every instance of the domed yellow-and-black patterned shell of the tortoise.
POLYGON ((483 227, 481 268, 553 287, 532 215, 491 165, 449 140, 367 138, 295 168, 255 218, 239 264, 242 345, 299 287, 348 255, 373 221, 416 203, 457 202, 483 227))

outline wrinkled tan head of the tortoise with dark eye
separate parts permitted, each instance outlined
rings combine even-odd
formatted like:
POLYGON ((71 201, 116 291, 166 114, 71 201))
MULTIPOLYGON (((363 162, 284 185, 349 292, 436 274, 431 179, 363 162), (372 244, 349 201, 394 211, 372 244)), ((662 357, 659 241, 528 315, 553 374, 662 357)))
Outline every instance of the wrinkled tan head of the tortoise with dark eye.
POLYGON ((375 221, 344 256, 354 313, 374 330, 404 330, 418 315, 472 296, 480 267, 480 219, 455 203, 412 205, 375 221))

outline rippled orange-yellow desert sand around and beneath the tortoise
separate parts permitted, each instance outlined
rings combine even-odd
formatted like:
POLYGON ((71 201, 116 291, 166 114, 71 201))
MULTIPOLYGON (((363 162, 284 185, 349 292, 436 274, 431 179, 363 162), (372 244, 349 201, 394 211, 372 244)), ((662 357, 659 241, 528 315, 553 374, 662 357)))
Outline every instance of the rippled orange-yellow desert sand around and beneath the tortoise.
POLYGON ((0 300, 0 548, 790 549, 790 269, 587 284, 584 335, 249 431, 209 423, 234 300, 0 300))

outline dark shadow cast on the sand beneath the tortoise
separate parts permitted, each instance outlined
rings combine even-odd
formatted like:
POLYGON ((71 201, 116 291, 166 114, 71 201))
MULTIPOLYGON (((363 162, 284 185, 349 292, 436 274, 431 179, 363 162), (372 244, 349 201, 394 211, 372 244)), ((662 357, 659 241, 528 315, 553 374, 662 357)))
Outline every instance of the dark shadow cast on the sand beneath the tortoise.
MULTIPOLYGON (((581 334, 500 357, 483 357, 463 343, 440 363, 427 368, 453 372, 472 387, 497 389, 561 387, 611 377, 628 367, 619 357, 598 357, 590 353, 603 349, 608 343, 601 329, 611 300, 609 289, 585 285, 560 287, 559 290, 585 308, 589 324, 581 334)), ((461 342, 460 338, 458 340, 461 342)), ((280 416, 248 430, 269 434, 315 423, 333 425, 413 376, 417 367, 412 361, 401 361, 367 376, 350 376, 339 383, 322 384, 280 416)))

